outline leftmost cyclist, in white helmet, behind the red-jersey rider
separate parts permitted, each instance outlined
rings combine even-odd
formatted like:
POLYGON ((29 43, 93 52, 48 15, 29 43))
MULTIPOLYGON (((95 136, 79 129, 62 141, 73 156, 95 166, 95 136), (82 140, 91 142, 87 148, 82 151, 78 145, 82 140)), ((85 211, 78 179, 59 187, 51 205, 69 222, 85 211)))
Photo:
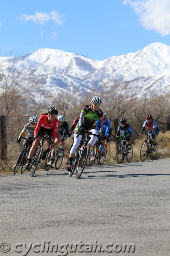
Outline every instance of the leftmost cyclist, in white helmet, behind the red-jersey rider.
MULTIPOLYGON (((37 116, 30 116, 29 123, 25 124, 25 126, 23 127, 23 130, 21 131, 20 136, 17 139, 17 142, 20 143, 21 137, 24 136, 26 134, 26 132, 27 132, 27 136, 25 137, 26 139, 33 138, 33 134, 34 134, 34 130, 35 130, 37 121, 38 121, 37 116)), ((27 140, 23 141, 23 146, 25 146, 26 142, 27 142, 27 140)))

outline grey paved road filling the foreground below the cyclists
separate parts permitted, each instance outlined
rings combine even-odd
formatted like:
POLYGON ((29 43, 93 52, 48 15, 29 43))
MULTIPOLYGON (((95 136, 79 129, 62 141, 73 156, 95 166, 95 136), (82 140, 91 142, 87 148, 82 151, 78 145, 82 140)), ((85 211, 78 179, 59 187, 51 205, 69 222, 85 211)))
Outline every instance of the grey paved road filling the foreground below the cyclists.
POLYGON ((87 168, 79 180, 65 170, 35 174, 0 177, 0 250, 10 244, 0 256, 66 255, 63 243, 78 243, 72 256, 170 255, 170 159, 87 168), (90 243, 96 252, 80 252, 90 243), (135 252, 122 252, 128 243, 135 252))

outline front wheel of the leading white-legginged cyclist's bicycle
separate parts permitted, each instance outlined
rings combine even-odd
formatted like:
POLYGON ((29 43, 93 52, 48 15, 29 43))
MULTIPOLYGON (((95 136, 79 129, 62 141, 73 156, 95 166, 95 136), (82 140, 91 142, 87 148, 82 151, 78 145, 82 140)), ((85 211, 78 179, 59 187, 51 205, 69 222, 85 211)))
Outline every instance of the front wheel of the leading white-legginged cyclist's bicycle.
POLYGON ((89 151, 89 144, 86 146, 84 145, 81 151, 81 154, 78 158, 78 164, 76 168, 76 178, 79 179, 80 176, 82 175, 84 168, 86 166, 86 161, 88 158, 88 151, 89 151))

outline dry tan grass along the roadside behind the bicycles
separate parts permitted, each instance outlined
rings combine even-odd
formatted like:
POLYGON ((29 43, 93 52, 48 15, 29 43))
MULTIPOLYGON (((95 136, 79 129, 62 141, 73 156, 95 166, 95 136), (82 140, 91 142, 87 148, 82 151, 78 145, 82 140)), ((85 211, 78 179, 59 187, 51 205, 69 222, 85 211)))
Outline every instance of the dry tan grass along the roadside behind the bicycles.
MULTIPOLYGON (((140 161, 140 148, 143 140, 145 139, 145 136, 143 138, 139 138, 134 141, 133 144, 133 162, 140 161)), ((156 137, 156 141, 158 143, 158 154, 157 158, 168 158, 170 157, 170 131, 162 133, 156 137)), ((66 167, 66 160, 68 159, 70 146, 71 146, 72 140, 68 139, 66 140, 66 145, 64 148, 64 159, 63 163, 61 165, 61 168, 66 167)), ((45 148, 47 145, 45 145, 45 148)), ((18 143, 10 143, 8 144, 8 162, 0 162, 0 175, 6 175, 6 174, 12 174, 13 173, 13 166, 16 163, 16 159, 18 157, 18 153, 20 151, 20 145, 18 143)), ((110 142, 108 151, 107 151, 107 157, 105 164, 116 164, 116 145, 114 142, 110 142)))

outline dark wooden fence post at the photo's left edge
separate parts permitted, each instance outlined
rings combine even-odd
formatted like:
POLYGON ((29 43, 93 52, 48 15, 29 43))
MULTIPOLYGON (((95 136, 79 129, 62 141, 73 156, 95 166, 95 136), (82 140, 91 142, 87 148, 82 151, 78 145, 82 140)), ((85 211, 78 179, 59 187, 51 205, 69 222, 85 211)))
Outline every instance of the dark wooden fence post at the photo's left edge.
POLYGON ((6 161, 7 142, 6 142, 6 116, 0 116, 0 159, 6 161))

